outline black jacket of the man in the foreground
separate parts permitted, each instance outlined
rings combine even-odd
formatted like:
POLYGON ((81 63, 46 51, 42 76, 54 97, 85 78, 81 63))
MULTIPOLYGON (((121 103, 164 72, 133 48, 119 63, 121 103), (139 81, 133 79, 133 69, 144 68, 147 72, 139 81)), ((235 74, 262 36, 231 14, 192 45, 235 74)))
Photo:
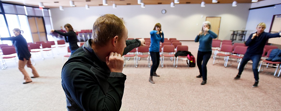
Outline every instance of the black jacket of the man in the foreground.
MULTIPOLYGON (((62 88, 69 111, 117 111, 121 108, 126 75, 110 72, 91 47, 89 39, 62 68, 62 88)), ((127 40, 123 55, 140 46, 127 40)))

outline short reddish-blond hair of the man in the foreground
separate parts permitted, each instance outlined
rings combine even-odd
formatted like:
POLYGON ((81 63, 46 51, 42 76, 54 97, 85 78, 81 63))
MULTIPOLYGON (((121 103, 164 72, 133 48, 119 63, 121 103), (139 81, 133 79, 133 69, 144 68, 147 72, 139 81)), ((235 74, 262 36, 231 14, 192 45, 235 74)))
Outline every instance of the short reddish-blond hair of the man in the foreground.
POLYGON ((125 29, 123 18, 113 14, 101 15, 93 25, 92 44, 105 46, 115 36, 122 37, 125 29))

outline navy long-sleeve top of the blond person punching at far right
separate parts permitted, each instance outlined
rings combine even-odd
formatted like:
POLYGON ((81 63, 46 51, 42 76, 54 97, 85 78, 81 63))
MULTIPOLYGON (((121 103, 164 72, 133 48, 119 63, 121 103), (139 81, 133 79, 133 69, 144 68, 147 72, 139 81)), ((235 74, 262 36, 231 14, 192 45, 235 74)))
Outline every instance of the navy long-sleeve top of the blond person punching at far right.
MULTIPOLYGON (((257 33, 257 32, 255 32, 257 33)), ((253 33, 253 34, 255 34, 253 33)), ((259 36, 256 36, 254 39, 251 39, 253 34, 250 35, 248 40, 245 42, 246 46, 249 46, 247 48, 246 53, 252 54, 252 55, 262 55, 264 46, 266 44, 266 41, 270 38, 275 37, 281 37, 279 33, 271 34, 268 32, 262 32, 259 36)))

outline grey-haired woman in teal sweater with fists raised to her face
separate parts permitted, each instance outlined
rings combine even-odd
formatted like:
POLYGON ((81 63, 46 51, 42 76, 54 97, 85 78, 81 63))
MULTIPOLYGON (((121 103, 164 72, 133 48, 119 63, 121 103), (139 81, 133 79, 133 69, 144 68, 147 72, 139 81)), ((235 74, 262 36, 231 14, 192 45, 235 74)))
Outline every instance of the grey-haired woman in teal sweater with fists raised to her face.
POLYGON ((195 42, 199 41, 197 66, 200 72, 200 75, 196 77, 203 77, 201 85, 207 83, 207 63, 212 55, 212 40, 217 38, 217 34, 209 29, 211 29, 211 23, 209 21, 203 22, 202 31, 195 38, 195 42))

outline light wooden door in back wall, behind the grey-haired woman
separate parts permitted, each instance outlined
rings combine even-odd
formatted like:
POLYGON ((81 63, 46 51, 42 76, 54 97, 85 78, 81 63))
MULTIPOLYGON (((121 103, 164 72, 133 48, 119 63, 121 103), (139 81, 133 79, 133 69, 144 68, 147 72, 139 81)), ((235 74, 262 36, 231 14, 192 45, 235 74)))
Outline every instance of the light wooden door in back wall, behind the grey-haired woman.
POLYGON ((217 34, 217 38, 219 39, 219 27, 221 25, 221 17, 217 16, 207 16, 206 21, 211 22, 211 30, 217 34))

